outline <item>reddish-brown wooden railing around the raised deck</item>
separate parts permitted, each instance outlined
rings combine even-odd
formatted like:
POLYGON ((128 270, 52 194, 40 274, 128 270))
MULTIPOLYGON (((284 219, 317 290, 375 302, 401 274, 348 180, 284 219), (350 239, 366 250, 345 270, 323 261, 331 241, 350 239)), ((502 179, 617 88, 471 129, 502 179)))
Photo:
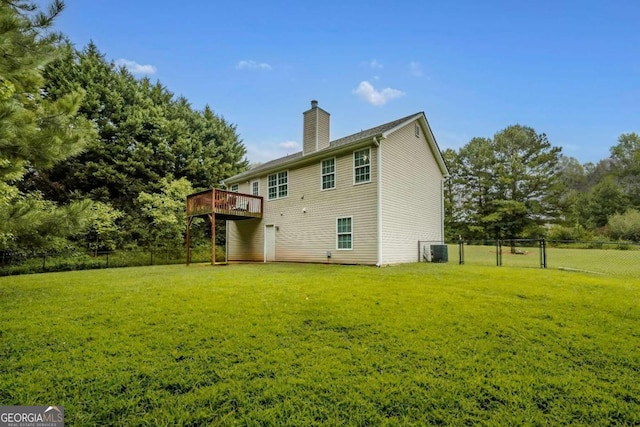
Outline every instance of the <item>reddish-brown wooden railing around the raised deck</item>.
POLYGON ((262 218, 263 199, 260 196, 219 190, 201 191, 187 196, 187 216, 217 215, 262 218))

